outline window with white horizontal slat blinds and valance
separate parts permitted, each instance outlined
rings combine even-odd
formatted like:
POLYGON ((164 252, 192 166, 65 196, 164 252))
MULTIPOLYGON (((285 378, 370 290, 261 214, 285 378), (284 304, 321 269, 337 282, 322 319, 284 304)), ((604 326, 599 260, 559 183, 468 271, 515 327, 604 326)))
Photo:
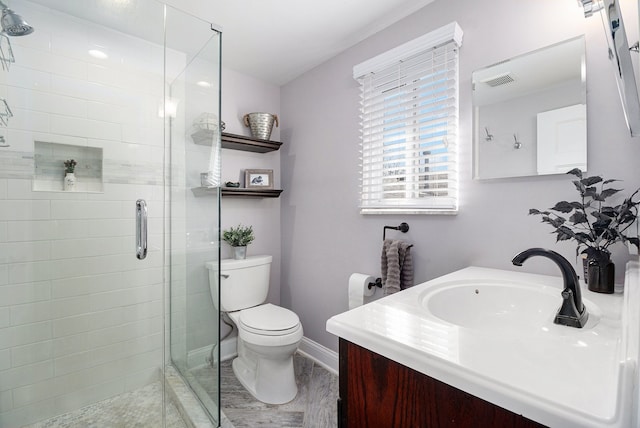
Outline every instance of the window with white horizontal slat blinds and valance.
POLYGON ((362 214, 457 212, 461 41, 454 22, 353 68, 362 214))

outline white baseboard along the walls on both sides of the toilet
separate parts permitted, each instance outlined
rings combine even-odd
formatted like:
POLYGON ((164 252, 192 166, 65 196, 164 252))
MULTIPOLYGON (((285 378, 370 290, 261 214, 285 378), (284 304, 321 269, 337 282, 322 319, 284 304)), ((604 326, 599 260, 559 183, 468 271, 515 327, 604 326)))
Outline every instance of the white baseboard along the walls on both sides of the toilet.
MULTIPOLYGON (((237 336, 226 338, 220 344, 220 360, 227 361, 237 355, 237 336)), ((320 345, 313 340, 303 337, 298 352, 314 362, 320 364, 333 374, 338 374, 338 353, 320 345)), ((187 366, 190 368, 207 363, 207 358, 211 355, 211 346, 189 351, 187 355, 187 366)))

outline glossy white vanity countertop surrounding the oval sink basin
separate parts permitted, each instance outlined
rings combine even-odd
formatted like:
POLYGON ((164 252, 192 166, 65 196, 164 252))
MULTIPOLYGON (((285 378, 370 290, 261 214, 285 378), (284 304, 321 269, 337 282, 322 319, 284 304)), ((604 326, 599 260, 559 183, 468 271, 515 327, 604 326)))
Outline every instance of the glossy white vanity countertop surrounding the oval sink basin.
MULTIPOLYGON (((625 290, 640 287, 637 262, 629 263, 626 278, 636 283, 625 290)), ((551 317, 562 301, 560 277, 469 267, 336 315, 327 331, 550 427, 631 426, 637 345, 625 335, 637 338, 639 326, 623 328, 623 319, 637 320, 638 293, 583 288, 590 313, 584 329, 550 323, 517 332, 508 326, 478 330, 443 321, 422 306, 432 287, 470 280, 557 288, 551 317), (634 314, 626 313, 630 307, 634 314)))

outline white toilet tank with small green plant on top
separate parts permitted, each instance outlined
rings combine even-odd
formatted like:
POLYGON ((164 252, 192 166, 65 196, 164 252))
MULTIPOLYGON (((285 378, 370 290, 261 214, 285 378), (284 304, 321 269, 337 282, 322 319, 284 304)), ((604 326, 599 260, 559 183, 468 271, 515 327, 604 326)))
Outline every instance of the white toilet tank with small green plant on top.
MULTIPOLYGON (((243 260, 220 260, 220 310, 225 312, 257 306, 267 300, 272 256, 250 256, 243 260)), ((208 262, 209 288, 216 304, 218 266, 208 262)), ((217 305, 216 305, 217 306, 217 305)))

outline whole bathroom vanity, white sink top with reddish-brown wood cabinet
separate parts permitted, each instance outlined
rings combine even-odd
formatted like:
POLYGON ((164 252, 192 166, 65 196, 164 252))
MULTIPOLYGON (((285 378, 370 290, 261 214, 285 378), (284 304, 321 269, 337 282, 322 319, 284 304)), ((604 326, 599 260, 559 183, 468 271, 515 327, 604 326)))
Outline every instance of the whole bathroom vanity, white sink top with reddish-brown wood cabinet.
POLYGON ((553 323, 562 279, 470 267, 332 317, 341 427, 630 427, 640 281, 584 292, 584 328, 553 323))

